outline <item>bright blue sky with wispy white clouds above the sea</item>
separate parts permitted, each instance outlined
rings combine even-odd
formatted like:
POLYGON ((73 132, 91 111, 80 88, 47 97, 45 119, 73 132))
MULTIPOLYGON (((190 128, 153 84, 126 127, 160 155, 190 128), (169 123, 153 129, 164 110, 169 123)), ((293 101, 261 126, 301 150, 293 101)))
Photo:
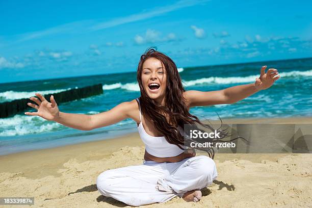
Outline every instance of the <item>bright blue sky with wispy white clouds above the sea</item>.
POLYGON ((310 1, 1 1, 0 83, 312 57, 310 1))

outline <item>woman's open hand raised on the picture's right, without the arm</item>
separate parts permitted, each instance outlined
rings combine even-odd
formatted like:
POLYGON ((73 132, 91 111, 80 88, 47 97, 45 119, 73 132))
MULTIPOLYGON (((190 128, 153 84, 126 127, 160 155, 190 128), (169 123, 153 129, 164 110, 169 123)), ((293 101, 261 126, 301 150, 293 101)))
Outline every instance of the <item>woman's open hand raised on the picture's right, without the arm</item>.
POLYGON ((268 89, 280 77, 280 75, 276 76, 278 74, 277 69, 269 69, 266 73, 266 68, 267 66, 263 66, 261 68, 261 74, 259 78, 256 78, 256 81, 254 83, 255 88, 258 90, 268 89))

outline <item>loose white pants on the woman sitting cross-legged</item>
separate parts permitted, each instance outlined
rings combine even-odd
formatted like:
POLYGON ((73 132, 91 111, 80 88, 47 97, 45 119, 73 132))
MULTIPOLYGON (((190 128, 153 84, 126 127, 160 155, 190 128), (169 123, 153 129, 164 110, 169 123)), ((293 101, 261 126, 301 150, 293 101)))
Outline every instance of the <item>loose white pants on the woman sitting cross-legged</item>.
POLYGON ((143 161, 102 172, 96 180, 98 191, 129 205, 166 202, 175 196, 202 189, 217 177, 215 162, 200 155, 177 163, 143 161))

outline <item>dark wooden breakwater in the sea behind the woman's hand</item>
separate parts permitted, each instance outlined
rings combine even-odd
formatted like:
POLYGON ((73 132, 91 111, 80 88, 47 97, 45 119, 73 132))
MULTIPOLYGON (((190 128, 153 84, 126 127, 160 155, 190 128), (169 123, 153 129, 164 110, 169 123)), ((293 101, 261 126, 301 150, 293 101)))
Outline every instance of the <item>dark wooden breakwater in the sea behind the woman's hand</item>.
MULTIPOLYGON (((56 102, 68 102, 76 99, 86 98, 103 93, 102 84, 87 86, 83 88, 70 89, 67 91, 52 93, 43 95, 44 98, 50 102, 50 96, 53 95, 56 102)), ((34 96, 37 97, 37 96, 34 96)), ((38 98, 38 97, 37 97, 38 98)), ((7 118, 15 114, 24 112, 25 110, 31 108, 27 105, 28 102, 35 103, 29 98, 22 98, 17 100, 12 100, 9 102, 0 102, 0 118, 7 118)))

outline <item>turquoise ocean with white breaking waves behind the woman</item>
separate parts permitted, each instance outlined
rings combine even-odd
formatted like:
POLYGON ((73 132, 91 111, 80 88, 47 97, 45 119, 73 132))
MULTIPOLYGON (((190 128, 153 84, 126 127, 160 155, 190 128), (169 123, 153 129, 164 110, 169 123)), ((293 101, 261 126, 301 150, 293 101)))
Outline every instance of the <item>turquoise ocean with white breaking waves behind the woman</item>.
MULTIPOLYGON (((312 58, 187 67, 178 71, 186 90, 213 91, 254 83, 263 65, 278 69, 281 76, 271 88, 230 105, 195 107, 190 113, 200 119, 214 120, 218 119, 217 113, 221 119, 312 116, 312 58)), ((0 102, 28 98, 36 92, 57 93, 99 83, 103 85, 103 94, 61 103, 60 111, 97 114, 140 97, 136 72, 126 72, 4 83, 0 84, 0 102)), ((0 155, 112 138, 136 132, 136 127, 135 121, 126 119, 92 131, 80 131, 21 113, 0 119, 0 155)))

